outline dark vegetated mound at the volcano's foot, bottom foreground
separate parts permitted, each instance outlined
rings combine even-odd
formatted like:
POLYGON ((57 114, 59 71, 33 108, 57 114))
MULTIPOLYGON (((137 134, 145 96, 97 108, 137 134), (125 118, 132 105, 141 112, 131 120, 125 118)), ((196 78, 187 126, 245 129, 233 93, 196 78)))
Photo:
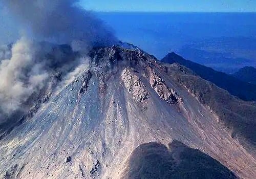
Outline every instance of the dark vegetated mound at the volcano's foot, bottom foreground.
POLYGON ((136 148, 130 158, 125 178, 237 178, 225 166, 197 149, 173 141, 166 146, 146 143, 136 148))

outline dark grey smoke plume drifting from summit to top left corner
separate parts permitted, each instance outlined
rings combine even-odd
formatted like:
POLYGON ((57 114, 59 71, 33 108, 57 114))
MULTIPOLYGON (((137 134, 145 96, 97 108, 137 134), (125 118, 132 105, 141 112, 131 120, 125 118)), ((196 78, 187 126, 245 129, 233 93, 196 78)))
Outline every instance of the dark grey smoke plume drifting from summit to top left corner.
POLYGON ((77 0, 2 0, 29 33, 57 43, 108 46, 116 42, 111 31, 77 0), (27 28, 29 27, 29 29, 27 28), (77 42, 75 43, 77 44, 77 42))

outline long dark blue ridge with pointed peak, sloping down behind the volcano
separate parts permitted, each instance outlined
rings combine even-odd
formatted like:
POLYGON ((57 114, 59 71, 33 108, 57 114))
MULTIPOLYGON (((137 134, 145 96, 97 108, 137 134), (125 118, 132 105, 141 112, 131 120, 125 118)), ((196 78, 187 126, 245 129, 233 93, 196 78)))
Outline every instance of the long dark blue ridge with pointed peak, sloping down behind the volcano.
POLYGON ((170 53, 162 59, 165 63, 179 63, 193 70, 201 78, 226 89, 231 95, 246 101, 256 101, 256 84, 241 81, 222 72, 217 72, 204 65, 185 60, 181 56, 170 53))

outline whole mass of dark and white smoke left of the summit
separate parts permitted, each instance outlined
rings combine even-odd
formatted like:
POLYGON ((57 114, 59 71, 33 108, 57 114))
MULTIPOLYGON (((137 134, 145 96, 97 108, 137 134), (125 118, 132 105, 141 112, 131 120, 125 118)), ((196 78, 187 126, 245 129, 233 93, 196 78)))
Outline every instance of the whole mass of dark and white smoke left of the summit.
POLYGON ((78 7, 77 2, 0 0, 24 32, 12 46, 0 47, 0 122, 20 109, 31 95, 39 94, 51 74, 61 71, 66 75, 66 84, 88 66, 86 54, 92 47, 117 42, 112 31, 92 12, 78 7), (74 72, 70 72, 71 68, 74 72))

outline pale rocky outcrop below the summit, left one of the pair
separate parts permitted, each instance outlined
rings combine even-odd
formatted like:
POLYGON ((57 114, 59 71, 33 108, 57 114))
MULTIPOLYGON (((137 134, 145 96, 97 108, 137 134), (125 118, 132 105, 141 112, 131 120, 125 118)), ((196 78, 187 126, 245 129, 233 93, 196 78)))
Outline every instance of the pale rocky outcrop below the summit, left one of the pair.
POLYGON ((125 68, 121 78, 127 91, 133 95, 134 101, 142 102, 150 97, 145 85, 133 70, 125 68))

